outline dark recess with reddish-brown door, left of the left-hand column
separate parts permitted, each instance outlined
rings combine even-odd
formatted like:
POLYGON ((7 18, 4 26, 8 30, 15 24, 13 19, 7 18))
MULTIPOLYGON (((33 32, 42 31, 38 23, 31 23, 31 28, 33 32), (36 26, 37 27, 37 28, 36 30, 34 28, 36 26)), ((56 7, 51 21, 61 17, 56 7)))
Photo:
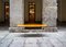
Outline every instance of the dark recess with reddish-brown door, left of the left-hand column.
POLYGON ((9 30, 9 0, 0 0, 0 31, 9 30))

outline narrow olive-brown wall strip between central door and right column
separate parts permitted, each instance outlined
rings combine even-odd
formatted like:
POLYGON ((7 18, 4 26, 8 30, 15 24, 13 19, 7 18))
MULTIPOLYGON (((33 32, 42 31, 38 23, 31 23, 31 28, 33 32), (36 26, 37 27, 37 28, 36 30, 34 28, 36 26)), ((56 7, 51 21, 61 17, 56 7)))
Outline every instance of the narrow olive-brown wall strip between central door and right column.
POLYGON ((36 0, 36 20, 35 21, 42 21, 42 0, 36 0))

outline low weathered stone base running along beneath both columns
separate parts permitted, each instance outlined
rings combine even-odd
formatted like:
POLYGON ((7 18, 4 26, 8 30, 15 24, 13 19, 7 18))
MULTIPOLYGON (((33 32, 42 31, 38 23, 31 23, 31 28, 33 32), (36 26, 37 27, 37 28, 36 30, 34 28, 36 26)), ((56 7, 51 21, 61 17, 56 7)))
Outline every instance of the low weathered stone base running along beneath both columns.
POLYGON ((29 32, 57 32, 57 27, 44 27, 42 30, 24 30, 24 27, 9 27, 12 33, 29 33, 29 32))

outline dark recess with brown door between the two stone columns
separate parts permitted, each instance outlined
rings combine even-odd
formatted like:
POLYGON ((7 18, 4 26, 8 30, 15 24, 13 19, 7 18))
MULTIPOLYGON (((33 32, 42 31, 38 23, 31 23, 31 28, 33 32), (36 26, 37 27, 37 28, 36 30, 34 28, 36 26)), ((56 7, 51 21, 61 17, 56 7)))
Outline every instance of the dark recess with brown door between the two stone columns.
POLYGON ((24 0, 24 24, 42 24, 42 0, 24 0))

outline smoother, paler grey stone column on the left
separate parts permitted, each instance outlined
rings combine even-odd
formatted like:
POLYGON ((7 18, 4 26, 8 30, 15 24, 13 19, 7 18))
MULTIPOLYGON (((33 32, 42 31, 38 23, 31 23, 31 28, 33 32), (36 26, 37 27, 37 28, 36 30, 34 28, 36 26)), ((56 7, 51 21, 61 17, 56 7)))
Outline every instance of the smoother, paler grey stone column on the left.
POLYGON ((24 0, 10 0, 10 28, 15 30, 18 24, 24 23, 24 0))

